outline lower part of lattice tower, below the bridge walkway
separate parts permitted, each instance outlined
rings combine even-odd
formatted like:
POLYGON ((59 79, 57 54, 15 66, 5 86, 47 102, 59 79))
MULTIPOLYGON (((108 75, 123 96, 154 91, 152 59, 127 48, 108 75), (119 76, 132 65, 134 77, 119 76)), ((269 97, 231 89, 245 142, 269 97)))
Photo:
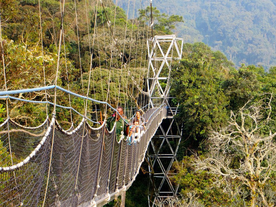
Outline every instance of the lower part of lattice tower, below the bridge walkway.
POLYGON ((181 127, 173 115, 177 108, 168 108, 168 116, 159 126, 159 133, 150 142, 148 162, 150 172, 149 206, 155 206, 162 199, 176 197, 179 185, 171 182, 176 174, 171 172, 173 162, 177 161, 177 151, 181 142, 181 127), (172 112, 173 113, 172 113, 172 112))

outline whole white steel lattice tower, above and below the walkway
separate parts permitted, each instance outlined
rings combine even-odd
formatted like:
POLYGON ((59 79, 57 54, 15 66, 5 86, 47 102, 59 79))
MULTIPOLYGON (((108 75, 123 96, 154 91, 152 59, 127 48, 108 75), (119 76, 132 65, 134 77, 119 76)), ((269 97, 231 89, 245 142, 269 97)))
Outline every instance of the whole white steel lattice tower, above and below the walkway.
POLYGON ((181 141, 181 127, 177 124, 174 115, 177 107, 171 107, 170 97, 170 72, 173 60, 182 57, 183 39, 174 34, 155 36, 147 41, 148 71, 147 89, 150 98, 150 107, 158 107, 162 103, 167 104, 167 118, 159 126, 148 147, 148 162, 150 172, 150 185, 154 189, 149 194, 149 206, 155 206, 161 198, 177 196, 178 185, 174 185, 170 178, 174 173, 170 169, 174 161, 181 141), (165 53, 164 53, 165 51, 165 53))

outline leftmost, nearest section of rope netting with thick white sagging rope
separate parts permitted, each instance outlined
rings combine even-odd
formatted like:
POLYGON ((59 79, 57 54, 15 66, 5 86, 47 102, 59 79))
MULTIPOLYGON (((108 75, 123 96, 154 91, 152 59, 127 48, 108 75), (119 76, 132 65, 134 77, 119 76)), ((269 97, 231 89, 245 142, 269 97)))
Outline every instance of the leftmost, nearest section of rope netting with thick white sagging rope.
POLYGON ((52 135, 52 125, 47 125, 49 122, 39 127, 22 128, 8 120, 1 126, 0 153, 4 159, 0 162, 0 206, 39 206, 43 201, 51 146, 48 138, 52 135), (7 143, 8 124, 11 154, 7 143), (34 156, 32 152, 36 152, 34 156), (13 166, 17 166, 13 170, 9 169, 12 167, 11 158, 13 166))

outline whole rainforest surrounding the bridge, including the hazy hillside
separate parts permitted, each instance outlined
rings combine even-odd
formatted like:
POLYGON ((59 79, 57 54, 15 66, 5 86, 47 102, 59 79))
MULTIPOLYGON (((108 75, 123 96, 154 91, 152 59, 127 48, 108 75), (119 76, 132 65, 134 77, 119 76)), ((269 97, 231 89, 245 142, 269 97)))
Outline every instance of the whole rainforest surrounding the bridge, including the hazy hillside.
MULTIPOLYGON (((113 106, 118 102, 127 108, 143 105, 146 99, 136 86, 145 88, 150 9, 138 6, 136 10, 132 6, 136 14, 131 9, 128 13, 112 1, 103 1, 104 10, 97 2, 79 0, 75 6, 74 1, 66 1, 57 83, 86 94, 91 65, 90 97, 107 99, 113 106), (121 51, 111 47, 109 24, 114 26, 121 51), (129 71, 122 62, 127 63, 129 71), (128 74, 136 85, 129 81, 128 74)), ((180 196, 157 205, 275 206, 275 3, 156 0, 153 6, 153 35, 175 32, 185 40, 182 59, 172 64, 170 91, 174 103, 179 103, 175 120, 182 126, 178 161, 172 169, 176 175, 171 179, 179 183, 180 196)), ((0 70, 1 91, 5 85, 7 90, 53 85, 61 28, 60 1, 0 0, 0 15, 5 60, 1 65, 5 64, 6 70, 6 80, 0 70)), ((84 113, 82 99, 71 97, 69 102, 64 93, 58 96, 57 104, 72 104, 84 113)), ((53 101, 50 91, 46 95, 20 93, 17 97, 53 101)), ((3 122, 7 106, 5 100, 0 103, 3 122)), ((43 104, 11 99, 8 107, 9 116, 26 126, 39 125, 52 109, 49 106, 46 111, 43 104)), ((97 110, 104 111, 105 106, 89 104, 87 116, 96 118, 97 110)), ((63 127, 81 119, 70 116, 65 109, 59 108, 56 113, 63 127)), ((111 113, 109 110, 107 115, 111 113)), ((148 205, 147 168, 147 163, 141 166, 126 192, 125 206, 148 205)), ((106 206, 119 203, 120 198, 106 206)))

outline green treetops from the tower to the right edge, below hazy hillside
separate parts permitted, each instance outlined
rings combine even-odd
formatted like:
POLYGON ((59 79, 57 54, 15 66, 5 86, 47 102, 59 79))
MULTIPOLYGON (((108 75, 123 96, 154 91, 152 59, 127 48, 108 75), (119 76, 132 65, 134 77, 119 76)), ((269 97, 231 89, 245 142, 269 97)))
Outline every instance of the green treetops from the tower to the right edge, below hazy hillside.
MULTIPOLYGON (((203 43, 186 44, 186 47, 190 52, 184 52, 171 75, 171 94, 180 104, 177 118, 183 123, 186 137, 201 141, 210 129, 227 124, 230 110, 238 110, 260 93, 275 93, 274 67, 265 72, 262 67, 243 64, 235 70, 225 55, 203 43)), ((274 99, 272 105, 275 106, 274 99)), ((272 116, 274 120, 274 111, 272 116)), ((273 124, 269 126, 274 129, 273 124)), ((190 141, 191 145, 196 144, 190 141)))

